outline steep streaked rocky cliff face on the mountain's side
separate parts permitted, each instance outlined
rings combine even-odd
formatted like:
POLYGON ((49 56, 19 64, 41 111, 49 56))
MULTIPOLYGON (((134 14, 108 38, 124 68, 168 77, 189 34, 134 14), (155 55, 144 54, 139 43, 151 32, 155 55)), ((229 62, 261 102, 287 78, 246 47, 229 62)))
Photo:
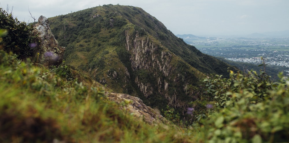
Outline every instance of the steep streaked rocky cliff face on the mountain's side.
MULTIPOLYGON (((149 36, 132 35, 125 31, 126 49, 131 52, 131 68, 140 73, 134 79, 138 88, 146 98, 160 95, 164 97, 170 106, 183 107, 185 102, 182 96, 188 100, 193 98, 187 86, 192 82, 198 82, 194 73, 187 69, 189 66, 184 61, 170 52, 156 39, 149 36), (177 69, 176 64, 183 64, 182 70, 177 69), (196 81, 194 81, 196 80, 196 81)), ((192 70, 192 69, 191 69, 192 70)), ((201 73, 200 73, 201 75, 201 73)))

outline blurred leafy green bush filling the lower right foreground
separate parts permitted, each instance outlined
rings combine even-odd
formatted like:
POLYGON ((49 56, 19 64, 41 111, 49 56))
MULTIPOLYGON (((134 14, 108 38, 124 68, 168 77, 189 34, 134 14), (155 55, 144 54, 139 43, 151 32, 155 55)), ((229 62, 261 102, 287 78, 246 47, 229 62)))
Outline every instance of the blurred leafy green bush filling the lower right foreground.
POLYGON ((272 83, 260 72, 205 79, 216 108, 208 113, 209 142, 288 142, 289 81, 272 83))

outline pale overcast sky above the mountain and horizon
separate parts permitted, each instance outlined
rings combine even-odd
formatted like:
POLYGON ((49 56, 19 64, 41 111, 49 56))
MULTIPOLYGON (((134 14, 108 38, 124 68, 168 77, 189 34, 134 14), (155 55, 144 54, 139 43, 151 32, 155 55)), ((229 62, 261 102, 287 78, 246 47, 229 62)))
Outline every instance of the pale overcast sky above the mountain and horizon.
POLYGON ((247 35, 289 30, 289 0, 1 0, 19 21, 103 5, 141 7, 174 34, 247 35))

